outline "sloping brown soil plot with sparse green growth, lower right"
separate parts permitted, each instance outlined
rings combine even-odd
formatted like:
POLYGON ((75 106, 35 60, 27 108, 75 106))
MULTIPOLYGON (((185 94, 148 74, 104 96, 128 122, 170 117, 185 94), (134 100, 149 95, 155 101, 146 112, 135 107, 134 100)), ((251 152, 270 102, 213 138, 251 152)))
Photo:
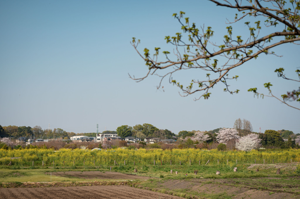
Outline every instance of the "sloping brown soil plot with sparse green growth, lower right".
POLYGON ((292 177, 287 180, 292 180, 294 183, 285 184, 280 178, 191 179, 167 180, 158 183, 157 187, 170 192, 184 190, 195 198, 206 198, 206 195, 214 194, 225 194, 232 199, 300 198, 300 178, 292 177))

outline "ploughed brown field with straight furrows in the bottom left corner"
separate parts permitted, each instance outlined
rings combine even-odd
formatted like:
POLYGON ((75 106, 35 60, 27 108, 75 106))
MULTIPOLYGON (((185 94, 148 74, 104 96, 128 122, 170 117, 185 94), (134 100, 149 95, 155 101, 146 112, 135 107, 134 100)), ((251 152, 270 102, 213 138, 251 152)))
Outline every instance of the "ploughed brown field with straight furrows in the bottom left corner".
POLYGON ((0 196, 1 199, 180 199, 180 197, 177 196, 122 185, 44 188, 2 188, 0 189, 0 196))

